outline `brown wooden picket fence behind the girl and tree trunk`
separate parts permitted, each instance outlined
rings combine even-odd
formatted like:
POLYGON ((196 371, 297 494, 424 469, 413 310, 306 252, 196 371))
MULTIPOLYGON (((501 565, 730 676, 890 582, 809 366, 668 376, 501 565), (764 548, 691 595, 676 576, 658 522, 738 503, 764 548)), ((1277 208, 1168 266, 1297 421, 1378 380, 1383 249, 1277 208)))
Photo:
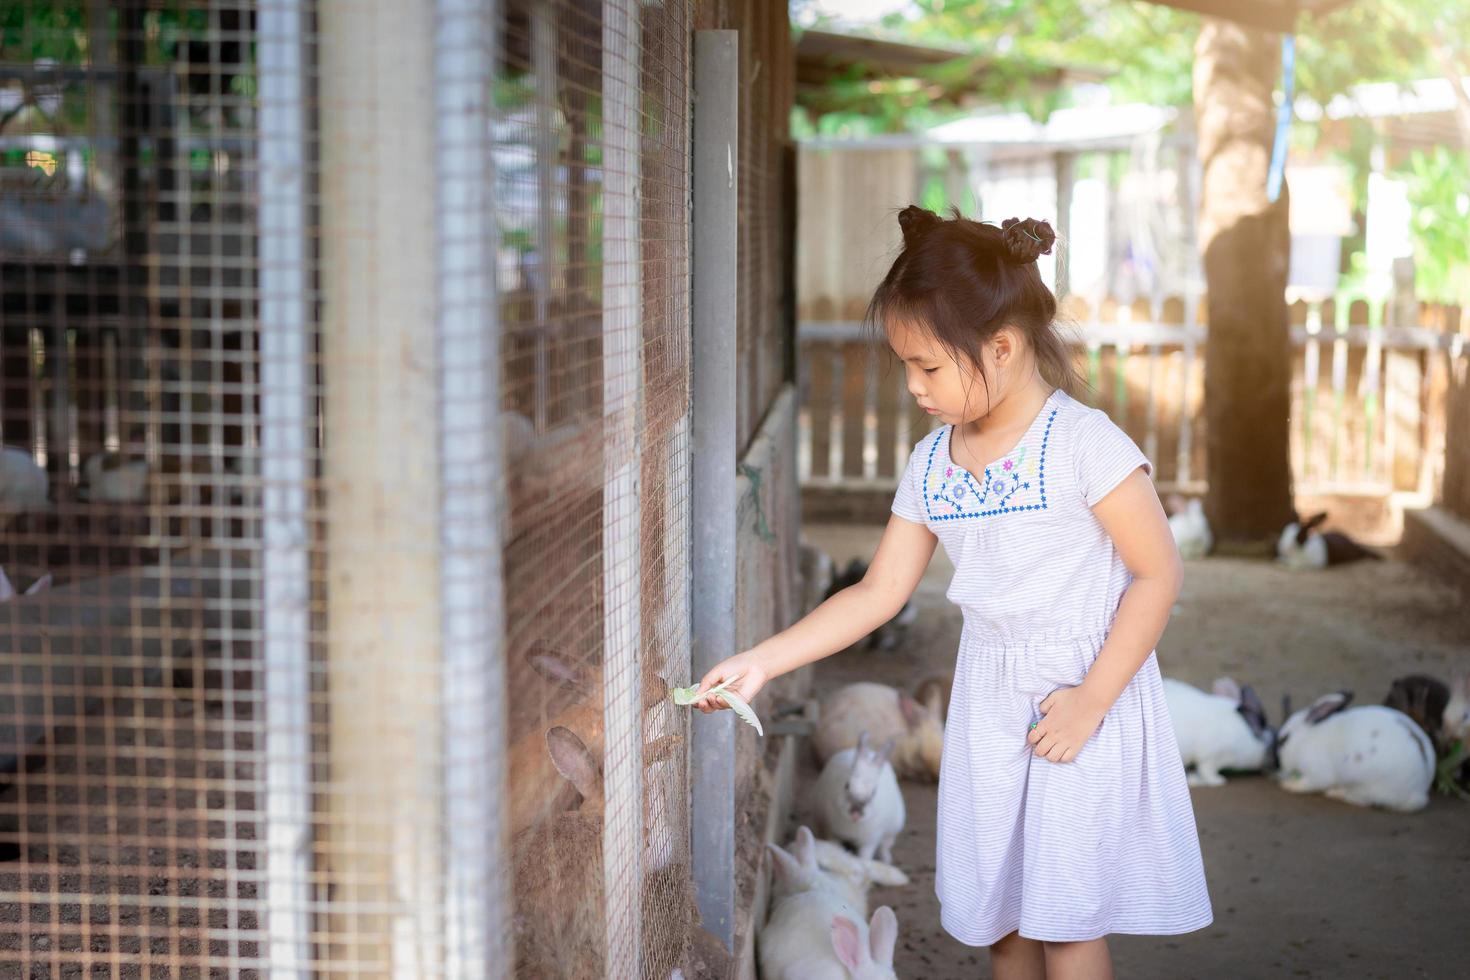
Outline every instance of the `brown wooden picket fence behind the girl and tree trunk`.
MULTIPOLYGON (((1083 400, 1138 442, 1160 488, 1202 492, 1202 301, 1195 310, 1177 298, 1092 309, 1070 297, 1064 320, 1089 383, 1083 400)), ((1329 300, 1292 304, 1291 323, 1297 492, 1436 495, 1449 407, 1463 403, 1470 311, 1420 304, 1394 317, 1361 301, 1339 311, 1329 300), (1385 317, 1414 322, 1383 326, 1385 317)), ((897 486, 913 444, 933 426, 898 360, 851 320, 803 322, 798 344, 803 486, 897 486)))

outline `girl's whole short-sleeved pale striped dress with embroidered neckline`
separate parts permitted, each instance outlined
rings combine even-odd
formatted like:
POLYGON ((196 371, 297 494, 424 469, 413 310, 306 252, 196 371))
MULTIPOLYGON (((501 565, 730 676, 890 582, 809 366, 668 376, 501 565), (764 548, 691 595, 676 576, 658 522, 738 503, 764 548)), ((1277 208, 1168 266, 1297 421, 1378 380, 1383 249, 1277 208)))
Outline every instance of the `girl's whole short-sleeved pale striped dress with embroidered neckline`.
POLYGON ((1213 914, 1183 763, 1152 651, 1070 763, 1026 742, 1038 705, 1082 682, 1132 576, 1091 507, 1152 466, 1105 413, 1053 391, 1005 457, 914 445, 894 497, 954 561, 964 613, 939 767, 935 893, 972 946, 1005 934, 1173 934, 1213 914))

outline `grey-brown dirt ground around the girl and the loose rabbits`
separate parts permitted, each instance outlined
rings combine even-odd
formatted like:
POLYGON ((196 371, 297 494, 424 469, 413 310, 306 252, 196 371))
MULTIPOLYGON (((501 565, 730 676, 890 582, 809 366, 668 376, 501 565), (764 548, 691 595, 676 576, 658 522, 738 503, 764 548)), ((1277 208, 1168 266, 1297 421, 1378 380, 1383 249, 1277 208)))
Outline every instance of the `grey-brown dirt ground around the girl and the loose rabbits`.
MULTIPOLYGON (((811 526, 835 560, 872 555, 879 527, 811 526)), ((941 548, 920 585, 919 621, 895 651, 844 651, 817 664, 816 692, 853 680, 907 685, 950 669, 960 613, 944 598, 941 548)), ((1470 669, 1470 610, 1416 569, 1364 563, 1292 574, 1266 561, 1191 561, 1158 644, 1166 676, 1208 688, 1251 683, 1279 723, 1280 696, 1302 705, 1347 688, 1376 704, 1402 673, 1470 669)), ((798 785, 817 774, 803 754, 798 785)), ((894 848, 911 883, 875 889, 898 914, 900 977, 989 977, 989 954, 939 929, 933 895, 935 788, 904 783, 908 826, 894 848)), ((1113 936, 1117 976, 1464 977, 1470 971, 1470 804, 1435 796, 1417 814, 1297 796, 1267 777, 1192 790, 1214 923, 1185 936, 1113 936)), ((806 818, 798 796, 786 839, 806 818)))

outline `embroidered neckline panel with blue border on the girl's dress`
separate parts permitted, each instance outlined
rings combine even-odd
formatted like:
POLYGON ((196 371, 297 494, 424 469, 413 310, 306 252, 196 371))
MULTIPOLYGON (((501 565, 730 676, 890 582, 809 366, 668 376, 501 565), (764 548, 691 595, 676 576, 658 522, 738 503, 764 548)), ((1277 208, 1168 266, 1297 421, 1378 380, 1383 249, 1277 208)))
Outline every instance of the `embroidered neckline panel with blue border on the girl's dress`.
POLYGON ((995 460, 976 479, 963 466, 951 460, 944 467, 935 466, 935 453, 948 438, 941 429, 929 447, 929 460, 923 475, 923 505, 931 520, 960 520, 961 517, 991 517, 1026 510, 1047 510, 1047 444, 1051 441, 1051 423, 1057 410, 1047 416, 1047 428, 1041 436, 1041 453, 1028 458, 1025 439, 1010 455, 995 460))

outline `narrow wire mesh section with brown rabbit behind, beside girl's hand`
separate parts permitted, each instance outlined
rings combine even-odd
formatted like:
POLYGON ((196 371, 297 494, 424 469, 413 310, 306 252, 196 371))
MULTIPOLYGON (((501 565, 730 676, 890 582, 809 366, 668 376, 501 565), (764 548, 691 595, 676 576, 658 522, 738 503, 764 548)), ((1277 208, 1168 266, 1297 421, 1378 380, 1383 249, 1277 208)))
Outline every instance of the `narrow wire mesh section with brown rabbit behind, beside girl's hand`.
POLYGON ((638 976, 641 961, 666 977, 691 915, 685 721, 667 699, 689 673, 689 31, 675 1, 507 7, 495 143, 525 976, 638 976))

